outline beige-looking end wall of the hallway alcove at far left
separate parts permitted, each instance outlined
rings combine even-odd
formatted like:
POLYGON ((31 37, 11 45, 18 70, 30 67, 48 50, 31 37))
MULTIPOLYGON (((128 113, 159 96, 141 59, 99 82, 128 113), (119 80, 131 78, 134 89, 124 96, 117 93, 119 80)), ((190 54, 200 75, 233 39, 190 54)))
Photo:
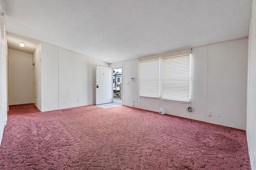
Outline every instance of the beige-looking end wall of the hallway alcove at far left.
POLYGON ((8 48, 9 105, 33 103, 32 54, 8 48))

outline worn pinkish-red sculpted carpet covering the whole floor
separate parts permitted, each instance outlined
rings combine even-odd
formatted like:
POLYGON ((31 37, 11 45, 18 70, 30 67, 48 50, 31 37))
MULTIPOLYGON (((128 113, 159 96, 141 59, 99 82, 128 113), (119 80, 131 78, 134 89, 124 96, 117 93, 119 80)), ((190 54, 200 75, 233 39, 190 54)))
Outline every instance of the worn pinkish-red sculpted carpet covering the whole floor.
POLYGON ((10 107, 0 169, 251 169, 242 130, 126 106, 34 109, 10 107))

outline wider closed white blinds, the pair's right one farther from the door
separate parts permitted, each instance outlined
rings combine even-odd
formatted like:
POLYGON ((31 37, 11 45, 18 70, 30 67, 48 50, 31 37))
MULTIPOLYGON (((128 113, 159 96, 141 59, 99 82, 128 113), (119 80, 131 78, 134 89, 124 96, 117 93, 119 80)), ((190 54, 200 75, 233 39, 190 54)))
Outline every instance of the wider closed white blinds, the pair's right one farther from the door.
POLYGON ((162 99, 190 102, 190 54, 163 57, 162 99))

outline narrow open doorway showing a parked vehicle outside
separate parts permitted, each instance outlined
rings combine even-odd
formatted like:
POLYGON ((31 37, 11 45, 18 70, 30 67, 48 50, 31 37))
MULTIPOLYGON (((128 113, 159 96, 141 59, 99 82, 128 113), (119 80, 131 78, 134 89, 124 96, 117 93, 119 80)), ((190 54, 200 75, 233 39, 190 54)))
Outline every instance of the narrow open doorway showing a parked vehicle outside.
POLYGON ((122 67, 113 68, 112 102, 122 104, 122 67))

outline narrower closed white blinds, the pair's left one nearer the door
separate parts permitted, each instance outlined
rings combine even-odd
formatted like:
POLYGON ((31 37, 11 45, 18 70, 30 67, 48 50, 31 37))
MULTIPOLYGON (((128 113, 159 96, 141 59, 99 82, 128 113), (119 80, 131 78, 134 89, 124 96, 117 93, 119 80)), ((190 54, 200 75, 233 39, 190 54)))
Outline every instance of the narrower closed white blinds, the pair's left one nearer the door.
POLYGON ((159 98, 159 58, 140 61, 140 96, 159 98))

